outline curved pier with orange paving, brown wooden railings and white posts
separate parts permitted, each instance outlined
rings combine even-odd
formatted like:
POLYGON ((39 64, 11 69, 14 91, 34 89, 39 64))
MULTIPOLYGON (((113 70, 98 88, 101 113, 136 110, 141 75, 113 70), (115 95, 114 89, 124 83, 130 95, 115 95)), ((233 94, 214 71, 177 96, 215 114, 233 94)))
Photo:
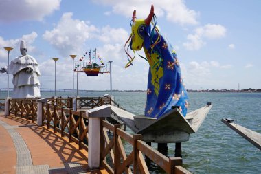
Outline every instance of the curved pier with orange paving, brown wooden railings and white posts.
POLYGON ((181 157, 167 157, 106 121, 109 97, 80 98, 75 110, 73 98, 0 103, 0 173, 150 173, 146 159, 166 173, 190 173, 181 157))

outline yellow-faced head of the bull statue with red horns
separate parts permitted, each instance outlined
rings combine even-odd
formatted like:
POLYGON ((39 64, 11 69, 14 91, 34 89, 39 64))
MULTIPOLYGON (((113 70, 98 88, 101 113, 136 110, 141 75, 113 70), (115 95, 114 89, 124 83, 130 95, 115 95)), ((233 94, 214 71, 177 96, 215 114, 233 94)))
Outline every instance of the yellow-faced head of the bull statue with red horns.
POLYGON ((136 19, 136 10, 133 11, 133 25, 131 26, 131 50, 141 50, 143 46, 150 47, 150 22, 154 16, 154 7, 151 5, 150 14, 146 19, 136 19))

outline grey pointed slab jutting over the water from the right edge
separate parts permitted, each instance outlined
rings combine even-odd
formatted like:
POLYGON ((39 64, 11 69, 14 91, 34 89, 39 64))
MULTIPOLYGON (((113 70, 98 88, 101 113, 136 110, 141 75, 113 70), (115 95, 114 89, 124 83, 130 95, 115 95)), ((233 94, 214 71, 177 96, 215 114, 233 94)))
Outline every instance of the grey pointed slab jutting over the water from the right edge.
POLYGON ((235 124, 234 122, 229 122, 229 120, 222 119, 222 122, 230 127, 232 130, 236 131, 239 135, 245 138, 247 141, 251 142, 254 146, 261 150, 261 134, 251 129, 235 124))

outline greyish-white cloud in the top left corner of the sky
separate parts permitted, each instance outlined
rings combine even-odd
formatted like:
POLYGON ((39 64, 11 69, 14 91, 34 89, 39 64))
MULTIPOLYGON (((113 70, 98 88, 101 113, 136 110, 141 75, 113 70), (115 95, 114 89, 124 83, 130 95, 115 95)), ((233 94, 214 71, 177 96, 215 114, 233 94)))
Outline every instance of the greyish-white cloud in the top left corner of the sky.
POLYGON ((41 21, 60 8, 61 0, 1 0, 0 21, 41 21))

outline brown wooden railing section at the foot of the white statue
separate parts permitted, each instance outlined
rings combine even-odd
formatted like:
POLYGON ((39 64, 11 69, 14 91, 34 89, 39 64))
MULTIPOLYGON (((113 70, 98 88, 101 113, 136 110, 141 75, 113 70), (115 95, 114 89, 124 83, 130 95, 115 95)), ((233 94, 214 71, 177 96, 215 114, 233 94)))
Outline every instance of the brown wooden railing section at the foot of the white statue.
POLYGON ((37 99, 11 99, 9 100, 9 112, 14 116, 20 116, 30 120, 37 119, 37 99))

